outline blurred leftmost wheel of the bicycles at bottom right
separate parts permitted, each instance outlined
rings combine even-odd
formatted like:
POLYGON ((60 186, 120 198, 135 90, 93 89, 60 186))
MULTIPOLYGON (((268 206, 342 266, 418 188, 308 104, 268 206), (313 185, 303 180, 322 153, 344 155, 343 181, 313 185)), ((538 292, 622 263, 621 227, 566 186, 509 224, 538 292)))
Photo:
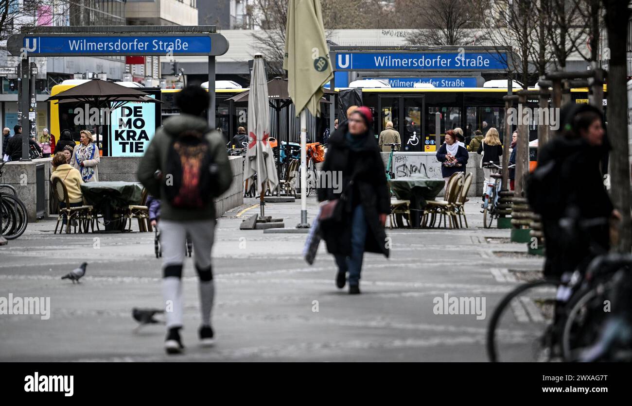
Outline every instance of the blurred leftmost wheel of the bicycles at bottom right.
POLYGON ((494 309, 487 328, 491 362, 547 362, 557 356, 553 326, 557 283, 519 285, 494 309))

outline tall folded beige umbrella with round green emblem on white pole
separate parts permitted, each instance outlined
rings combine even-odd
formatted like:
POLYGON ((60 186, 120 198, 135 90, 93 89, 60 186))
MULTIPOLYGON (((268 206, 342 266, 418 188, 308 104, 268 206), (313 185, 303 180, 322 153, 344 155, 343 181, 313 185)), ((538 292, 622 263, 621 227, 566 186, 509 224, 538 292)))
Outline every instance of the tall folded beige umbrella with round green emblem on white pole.
POLYGON ((320 116, 322 86, 330 81, 334 73, 329 60, 329 49, 325 40, 320 0, 289 0, 288 23, 286 25, 285 56, 283 69, 288 71, 288 93, 300 112, 301 122, 301 222, 298 228, 308 228, 307 201, 307 116, 320 116))

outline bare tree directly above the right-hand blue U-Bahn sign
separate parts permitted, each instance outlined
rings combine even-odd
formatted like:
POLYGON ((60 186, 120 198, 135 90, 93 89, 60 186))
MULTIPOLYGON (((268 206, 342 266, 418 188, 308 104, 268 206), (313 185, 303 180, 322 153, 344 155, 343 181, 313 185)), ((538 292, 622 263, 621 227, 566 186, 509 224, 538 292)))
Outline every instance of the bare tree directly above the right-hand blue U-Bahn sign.
POLYGON ((466 28, 479 28, 482 20, 480 5, 471 3, 483 2, 410 0, 410 9, 423 14, 418 20, 420 28, 409 35, 408 42, 412 45, 470 45, 473 36, 466 28))

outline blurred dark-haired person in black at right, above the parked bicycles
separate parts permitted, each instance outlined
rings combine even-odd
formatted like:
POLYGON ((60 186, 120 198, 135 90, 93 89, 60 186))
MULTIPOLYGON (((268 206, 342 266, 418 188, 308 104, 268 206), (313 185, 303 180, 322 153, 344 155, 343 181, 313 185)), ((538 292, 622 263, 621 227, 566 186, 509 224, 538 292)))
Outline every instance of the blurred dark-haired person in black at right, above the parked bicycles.
POLYGON ((621 216, 614 210, 600 171, 600 160, 607 150, 601 112, 590 105, 572 105, 562 110, 561 116, 561 134, 538 152, 538 168, 527 190, 530 204, 542 215, 544 275, 549 278, 585 270, 595 254, 609 250, 607 222, 582 229, 581 220, 621 216), (561 218, 576 220, 580 226, 565 229, 561 218))

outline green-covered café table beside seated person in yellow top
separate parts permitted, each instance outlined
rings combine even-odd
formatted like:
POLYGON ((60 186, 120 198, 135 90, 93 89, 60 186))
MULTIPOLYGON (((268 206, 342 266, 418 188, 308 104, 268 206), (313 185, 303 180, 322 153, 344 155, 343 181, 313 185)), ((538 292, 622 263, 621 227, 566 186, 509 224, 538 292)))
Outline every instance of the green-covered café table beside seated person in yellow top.
POLYGON ((143 186, 138 182, 85 182, 81 191, 86 203, 103 215, 106 232, 116 232, 125 228, 122 208, 140 204, 143 186))

